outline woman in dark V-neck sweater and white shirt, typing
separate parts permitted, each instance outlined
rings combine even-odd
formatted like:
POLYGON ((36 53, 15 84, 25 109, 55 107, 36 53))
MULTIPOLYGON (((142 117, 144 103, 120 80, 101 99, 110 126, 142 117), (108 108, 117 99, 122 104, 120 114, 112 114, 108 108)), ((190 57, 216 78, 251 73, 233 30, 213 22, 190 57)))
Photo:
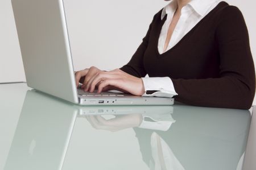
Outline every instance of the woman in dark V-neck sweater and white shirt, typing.
POLYGON ((173 0, 155 14, 128 64, 76 72, 77 85, 98 93, 168 96, 197 106, 249 109, 255 71, 245 20, 219 0, 173 0), (148 74, 149 77, 144 77, 148 74))

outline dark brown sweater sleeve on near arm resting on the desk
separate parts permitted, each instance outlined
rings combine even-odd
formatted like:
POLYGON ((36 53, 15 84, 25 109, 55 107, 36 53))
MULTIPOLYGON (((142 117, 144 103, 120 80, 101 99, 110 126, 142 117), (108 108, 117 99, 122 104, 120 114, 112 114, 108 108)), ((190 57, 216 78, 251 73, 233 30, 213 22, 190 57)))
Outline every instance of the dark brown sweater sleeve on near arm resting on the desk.
POLYGON ((255 71, 249 35, 241 11, 226 7, 216 29, 220 77, 172 79, 176 100, 191 105, 249 109, 255 94, 255 71))

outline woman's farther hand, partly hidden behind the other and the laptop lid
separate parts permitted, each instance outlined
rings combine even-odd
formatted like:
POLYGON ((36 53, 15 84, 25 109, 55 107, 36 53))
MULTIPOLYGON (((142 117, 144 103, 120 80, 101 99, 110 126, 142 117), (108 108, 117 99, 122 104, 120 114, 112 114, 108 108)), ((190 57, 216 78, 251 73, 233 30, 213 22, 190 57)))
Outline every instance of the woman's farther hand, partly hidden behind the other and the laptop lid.
POLYGON ((76 86, 79 86, 79 82, 82 84, 81 89, 84 89, 86 84, 94 77, 96 74, 104 72, 98 69, 97 67, 90 67, 83 69, 81 71, 77 71, 75 73, 76 76, 76 86))

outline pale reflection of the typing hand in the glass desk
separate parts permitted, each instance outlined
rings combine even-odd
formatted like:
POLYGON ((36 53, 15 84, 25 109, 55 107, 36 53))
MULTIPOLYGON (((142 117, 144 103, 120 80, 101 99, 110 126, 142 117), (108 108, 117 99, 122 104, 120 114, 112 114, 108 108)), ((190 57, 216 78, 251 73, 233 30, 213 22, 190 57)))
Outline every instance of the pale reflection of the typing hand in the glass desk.
POLYGON ((105 119, 101 115, 88 115, 85 118, 92 127, 98 130, 119 131, 125 128, 138 127, 143 117, 141 114, 115 115, 115 118, 105 119))

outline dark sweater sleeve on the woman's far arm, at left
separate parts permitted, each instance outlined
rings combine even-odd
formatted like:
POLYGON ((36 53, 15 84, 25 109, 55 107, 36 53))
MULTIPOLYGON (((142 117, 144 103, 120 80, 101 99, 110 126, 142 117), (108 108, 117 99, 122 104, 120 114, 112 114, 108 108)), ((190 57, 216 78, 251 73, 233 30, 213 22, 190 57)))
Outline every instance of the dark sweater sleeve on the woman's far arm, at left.
POLYGON ((139 47, 138 47, 137 51, 134 53, 133 57, 131 57, 131 60, 129 61, 129 63, 124 65, 122 68, 120 68, 122 71, 129 73, 135 77, 145 77, 146 76, 147 73, 144 69, 143 56, 144 56, 144 52, 147 49, 152 24, 154 23, 154 20, 159 13, 160 13, 160 11, 157 14, 155 14, 155 16, 148 28, 146 36, 143 38, 141 45, 139 45, 139 47))

